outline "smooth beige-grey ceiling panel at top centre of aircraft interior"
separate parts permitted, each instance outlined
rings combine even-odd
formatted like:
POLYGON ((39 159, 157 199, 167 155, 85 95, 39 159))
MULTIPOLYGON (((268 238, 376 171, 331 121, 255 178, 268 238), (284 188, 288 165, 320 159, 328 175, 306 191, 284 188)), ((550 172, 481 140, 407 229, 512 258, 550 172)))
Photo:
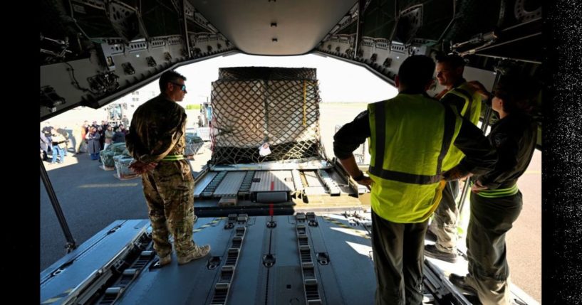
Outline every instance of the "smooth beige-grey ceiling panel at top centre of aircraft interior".
POLYGON ((260 55, 313 50, 355 4, 354 0, 191 2, 239 50, 260 55))

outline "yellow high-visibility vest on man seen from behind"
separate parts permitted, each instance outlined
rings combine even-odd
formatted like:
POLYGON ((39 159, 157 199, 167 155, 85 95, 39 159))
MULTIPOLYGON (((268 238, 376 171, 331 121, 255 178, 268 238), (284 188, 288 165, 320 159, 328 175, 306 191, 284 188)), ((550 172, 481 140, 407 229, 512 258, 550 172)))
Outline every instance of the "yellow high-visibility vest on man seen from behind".
POLYGON ((399 94, 368 111, 372 209, 393 223, 422 223, 442 197, 442 161, 461 117, 420 94, 399 94))

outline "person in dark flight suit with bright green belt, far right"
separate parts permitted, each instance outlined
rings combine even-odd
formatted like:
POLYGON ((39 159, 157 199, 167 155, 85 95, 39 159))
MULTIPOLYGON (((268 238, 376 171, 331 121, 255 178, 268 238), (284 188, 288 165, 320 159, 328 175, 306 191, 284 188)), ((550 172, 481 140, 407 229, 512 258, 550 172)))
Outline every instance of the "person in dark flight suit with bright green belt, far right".
MULTIPOLYGON (((479 82, 477 90, 489 95, 479 82)), ((529 77, 505 75, 499 80, 492 109, 499 114, 487 135, 497 148, 499 161, 493 171, 474 177, 471 216, 467 229, 469 273, 450 275, 450 281, 473 294, 483 304, 509 305, 509 266, 505 234, 523 205, 517 179, 526 171, 536 149, 537 124, 528 112, 539 90, 529 77)))

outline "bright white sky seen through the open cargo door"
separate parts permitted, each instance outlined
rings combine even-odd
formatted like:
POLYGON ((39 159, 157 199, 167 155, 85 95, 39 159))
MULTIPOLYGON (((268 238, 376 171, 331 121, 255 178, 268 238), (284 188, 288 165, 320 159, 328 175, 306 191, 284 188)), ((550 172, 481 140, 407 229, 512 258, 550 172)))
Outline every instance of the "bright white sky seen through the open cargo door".
MULTIPOLYGON (((323 55, 256 56, 235 54, 219 56, 177 68, 187 78, 187 104, 205 102, 211 84, 218 79, 218 69, 227 67, 316 68, 322 102, 378 102, 397 94, 397 90, 380 77, 358 65, 323 55)), ((157 90, 157 81, 142 90, 157 90)))

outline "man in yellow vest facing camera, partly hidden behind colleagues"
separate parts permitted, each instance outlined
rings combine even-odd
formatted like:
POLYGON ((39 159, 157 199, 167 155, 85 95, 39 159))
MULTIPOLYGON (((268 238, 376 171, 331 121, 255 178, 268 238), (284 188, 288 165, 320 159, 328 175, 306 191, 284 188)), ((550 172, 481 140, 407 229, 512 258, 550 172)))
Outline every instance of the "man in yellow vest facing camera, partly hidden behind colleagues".
MULTIPOLYGON (((445 86, 436 97, 445 105, 457 108, 457 112, 475 126, 481 114, 481 95, 463 78, 465 62, 459 55, 437 57, 437 80, 445 86)), ((462 151, 451 147, 445 164, 455 166, 463 159, 462 151)), ((427 233, 435 235, 435 245, 425 245, 425 255, 446 262, 457 261, 457 218, 459 209, 455 198, 459 193, 459 181, 447 183, 427 233)))

